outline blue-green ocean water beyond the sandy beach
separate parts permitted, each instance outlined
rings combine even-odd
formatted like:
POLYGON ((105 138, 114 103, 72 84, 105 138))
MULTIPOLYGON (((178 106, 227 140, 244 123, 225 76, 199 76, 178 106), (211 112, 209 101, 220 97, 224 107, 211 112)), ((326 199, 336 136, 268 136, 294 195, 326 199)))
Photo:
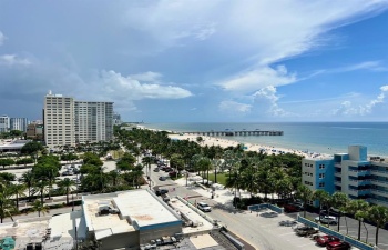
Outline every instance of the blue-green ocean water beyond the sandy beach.
POLYGON ((388 122, 277 123, 144 123, 145 128, 187 131, 282 130, 284 136, 224 137, 241 143, 266 144, 318 153, 346 153, 348 146, 366 146, 369 156, 388 156, 388 122))

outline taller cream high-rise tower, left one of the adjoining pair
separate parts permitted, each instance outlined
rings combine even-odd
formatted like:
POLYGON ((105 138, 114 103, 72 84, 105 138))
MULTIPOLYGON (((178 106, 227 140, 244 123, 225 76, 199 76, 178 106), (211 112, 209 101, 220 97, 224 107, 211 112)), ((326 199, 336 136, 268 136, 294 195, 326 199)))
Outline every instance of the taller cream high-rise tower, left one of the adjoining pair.
POLYGON ((49 147, 74 146, 74 100, 62 94, 44 97, 44 141, 49 147))

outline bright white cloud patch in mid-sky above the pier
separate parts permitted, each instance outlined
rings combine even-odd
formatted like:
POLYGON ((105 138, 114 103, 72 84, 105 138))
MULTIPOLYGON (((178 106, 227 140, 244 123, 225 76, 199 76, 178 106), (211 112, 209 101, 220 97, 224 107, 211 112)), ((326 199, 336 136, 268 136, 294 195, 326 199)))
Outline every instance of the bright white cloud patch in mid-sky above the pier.
POLYGON ((289 74, 286 67, 278 66, 276 69, 270 67, 259 67, 258 69, 244 72, 229 80, 219 82, 225 90, 238 92, 252 92, 266 87, 278 87, 289 84, 296 81, 294 73, 289 74))

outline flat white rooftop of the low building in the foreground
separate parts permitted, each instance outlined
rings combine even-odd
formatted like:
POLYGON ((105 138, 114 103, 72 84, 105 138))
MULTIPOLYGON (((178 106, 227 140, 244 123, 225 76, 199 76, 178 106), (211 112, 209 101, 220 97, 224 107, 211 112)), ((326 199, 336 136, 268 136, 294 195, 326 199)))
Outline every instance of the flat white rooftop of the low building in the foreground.
POLYGON ((142 189, 83 197, 83 212, 89 230, 105 231, 105 236, 155 224, 181 223, 173 210, 142 189), (100 207, 106 206, 118 209, 120 213, 100 216, 100 207))

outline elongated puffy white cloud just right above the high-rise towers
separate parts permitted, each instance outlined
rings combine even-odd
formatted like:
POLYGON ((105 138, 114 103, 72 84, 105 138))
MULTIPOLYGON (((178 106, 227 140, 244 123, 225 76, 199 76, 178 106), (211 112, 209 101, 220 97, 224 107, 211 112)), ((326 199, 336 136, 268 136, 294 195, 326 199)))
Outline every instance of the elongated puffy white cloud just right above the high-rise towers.
MULTIPOLYGON (((137 74, 137 77, 141 74, 137 74)), ((159 76, 160 77, 160 76, 159 76)), ((188 90, 174 86, 142 83, 135 78, 123 77, 113 70, 102 71, 100 81, 110 96, 129 100, 142 99, 181 99, 191 97, 188 90)))

